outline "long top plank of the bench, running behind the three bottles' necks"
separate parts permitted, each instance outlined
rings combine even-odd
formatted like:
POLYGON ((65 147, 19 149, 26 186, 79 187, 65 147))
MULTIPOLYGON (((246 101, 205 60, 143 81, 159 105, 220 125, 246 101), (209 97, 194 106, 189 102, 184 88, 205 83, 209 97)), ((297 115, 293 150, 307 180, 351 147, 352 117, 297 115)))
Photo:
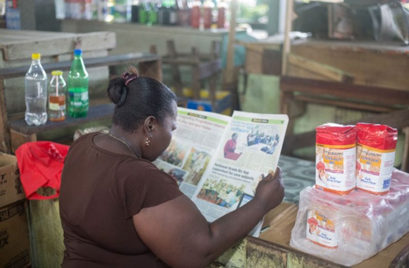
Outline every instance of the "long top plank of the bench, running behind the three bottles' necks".
MULTIPOLYGON (((149 61, 156 61, 160 59, 160 56, 144 53, 129 53, 122 55, 85 58, 84 64, 87 68, 100 67, 100 66, 114 66, 114 65, 133 65, 138 63, 145 63, 149 61)), ((59 63, 43 64, 44 70, 49 73, 52 70, 70 70, 72 61, 60 61, 59 63)), ((4 68, 0 69, 0 79, 15 78, 25 76, 27 72, 27 66, 4 68)))

